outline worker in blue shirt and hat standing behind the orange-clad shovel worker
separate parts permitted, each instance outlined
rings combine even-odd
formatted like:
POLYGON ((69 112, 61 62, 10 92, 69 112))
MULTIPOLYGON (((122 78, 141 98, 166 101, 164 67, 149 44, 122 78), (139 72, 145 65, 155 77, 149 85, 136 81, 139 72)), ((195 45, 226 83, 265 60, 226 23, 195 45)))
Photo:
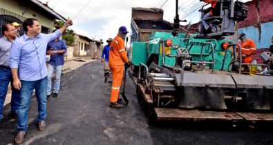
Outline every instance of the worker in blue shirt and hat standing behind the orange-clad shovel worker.
POLYGON ((108 81, 111 83, 112 80, 111 80, 111 71, 109 67, 109 50, 110 50, 112 39, 109 38, 108 40, 106 40, 106 42, 108 44, 104 46, 104 49, 102 50, 101 61, 102 63, 104 63, 104 82, 107 82, 107 79, 108 79, 108 81))

